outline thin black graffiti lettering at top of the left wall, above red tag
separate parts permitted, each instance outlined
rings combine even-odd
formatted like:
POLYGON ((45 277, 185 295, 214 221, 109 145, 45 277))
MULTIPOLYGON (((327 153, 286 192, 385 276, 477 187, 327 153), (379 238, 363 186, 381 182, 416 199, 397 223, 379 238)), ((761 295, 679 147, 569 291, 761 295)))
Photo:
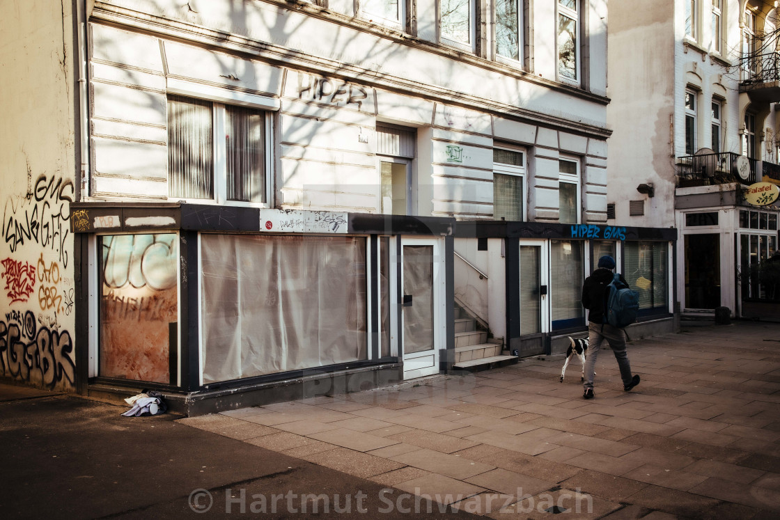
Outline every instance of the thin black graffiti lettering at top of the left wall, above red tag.
POLYGON ((37 244, 57 253, 62 267, 68 267, 66 239, 74 193, 70 179, 41 175, 26 196, 9 197, 3 212, 2 236, 11 253, 20 246, 37 244))

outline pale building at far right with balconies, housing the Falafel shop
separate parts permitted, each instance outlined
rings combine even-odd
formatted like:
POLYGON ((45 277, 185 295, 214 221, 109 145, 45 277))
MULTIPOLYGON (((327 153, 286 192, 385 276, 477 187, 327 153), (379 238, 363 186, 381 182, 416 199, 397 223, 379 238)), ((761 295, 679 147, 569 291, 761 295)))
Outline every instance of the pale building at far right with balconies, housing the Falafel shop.
POLYGON ((683 318, 777 317, 762 271, 780 207, 749 196, 780 184, 777 2, 621 0, 609 15, 609 69, 625 71, 608 93, 615 218, 677 229, 683 318))

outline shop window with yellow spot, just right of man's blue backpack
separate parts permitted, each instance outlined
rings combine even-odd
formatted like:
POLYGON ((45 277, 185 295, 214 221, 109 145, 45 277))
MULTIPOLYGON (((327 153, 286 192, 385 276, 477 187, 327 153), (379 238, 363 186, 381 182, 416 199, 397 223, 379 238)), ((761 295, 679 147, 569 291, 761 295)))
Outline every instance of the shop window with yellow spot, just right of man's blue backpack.
POLYGON ((625 242, 623 276, 639 292, 640 311, 668 312, 668 243, 625 242))

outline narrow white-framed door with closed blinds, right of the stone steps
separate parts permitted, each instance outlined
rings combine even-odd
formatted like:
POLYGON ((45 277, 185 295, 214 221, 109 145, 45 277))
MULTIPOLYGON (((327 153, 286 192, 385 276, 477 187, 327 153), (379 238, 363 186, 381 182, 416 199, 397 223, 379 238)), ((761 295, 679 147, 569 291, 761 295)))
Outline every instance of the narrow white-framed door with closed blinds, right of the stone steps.
POLYGON ((545 242, 521 241, 520 351, 521 357, 544 354, 542 334, 548 329, 548 253, 545 242))

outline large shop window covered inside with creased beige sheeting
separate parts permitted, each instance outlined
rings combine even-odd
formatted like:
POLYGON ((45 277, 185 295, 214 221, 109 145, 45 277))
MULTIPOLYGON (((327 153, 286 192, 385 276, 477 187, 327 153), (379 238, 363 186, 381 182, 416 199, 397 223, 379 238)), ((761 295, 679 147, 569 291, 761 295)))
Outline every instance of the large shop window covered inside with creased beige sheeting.
POLYGON ((201 235, 203 382, 367 359, 366 239, 201 235))

